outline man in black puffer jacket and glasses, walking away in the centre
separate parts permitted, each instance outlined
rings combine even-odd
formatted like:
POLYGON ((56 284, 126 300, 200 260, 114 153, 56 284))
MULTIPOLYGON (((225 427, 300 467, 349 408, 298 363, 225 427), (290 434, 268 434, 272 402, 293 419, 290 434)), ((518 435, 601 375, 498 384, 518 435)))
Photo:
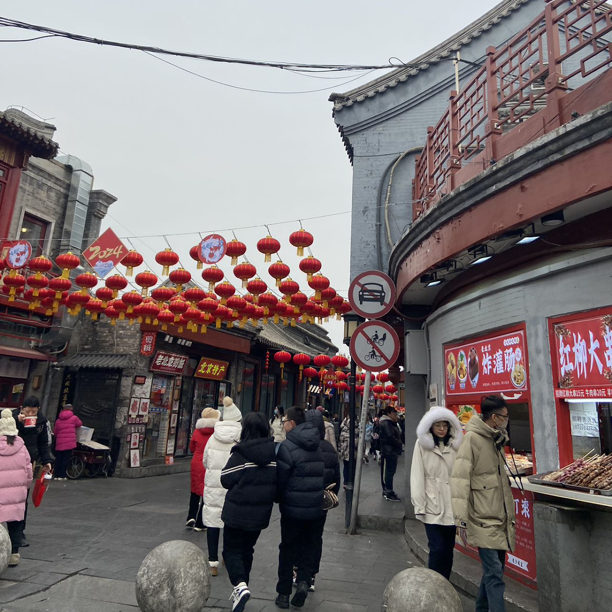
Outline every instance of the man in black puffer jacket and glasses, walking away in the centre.
POLYGON ((276 605, 289 608, 293 567, 303 567, 297 575, 297 591, 291 605, 301 608, 308 585, 315 574, 315 545, 323 510, 324 461, 321 435, 306 422, 302 408, 285 413, 286 439, 277 453, 278 497, 280 499, 280 546, 276 605))

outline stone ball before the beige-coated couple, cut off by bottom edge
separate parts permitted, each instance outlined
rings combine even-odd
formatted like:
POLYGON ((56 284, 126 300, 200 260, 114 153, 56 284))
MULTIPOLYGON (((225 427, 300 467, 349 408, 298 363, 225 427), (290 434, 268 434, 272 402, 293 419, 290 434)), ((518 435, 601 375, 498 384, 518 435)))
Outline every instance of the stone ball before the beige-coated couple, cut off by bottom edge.
POLYGON ((411 567, 387 584, 381 612, 462 612, 453 585, 438 572, 411 567))

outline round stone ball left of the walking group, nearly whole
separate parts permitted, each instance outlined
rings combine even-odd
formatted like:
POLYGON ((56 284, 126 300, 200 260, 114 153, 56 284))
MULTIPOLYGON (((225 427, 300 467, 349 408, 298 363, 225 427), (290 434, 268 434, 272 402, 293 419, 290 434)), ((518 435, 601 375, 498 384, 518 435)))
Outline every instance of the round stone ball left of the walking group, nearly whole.
POLYGON ((208 558, 185 540, 154 548, 136 575, 136 601, 142 612, 202 612, 210 594, 208 558))

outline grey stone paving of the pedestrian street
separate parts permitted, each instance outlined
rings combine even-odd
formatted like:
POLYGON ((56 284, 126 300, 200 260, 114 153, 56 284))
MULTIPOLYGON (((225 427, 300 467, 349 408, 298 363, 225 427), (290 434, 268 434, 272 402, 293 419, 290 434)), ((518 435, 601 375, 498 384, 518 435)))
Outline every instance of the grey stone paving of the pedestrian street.
MULTIPOLYGON (((376 478, 376 469, 368 470, 370 478, 376 478)), ((138 610, 136 572, 152 548, 185 539, 206 550, 206 532, 184 528, 188 498, 188 473, 53 482, 43 504, 37 509, 30 506, 31 545, 21 549, 20 565, 0 577, 0 610, 138 610)), ((247 605, 253 612, 277 610, 278 518, 275 508, 256 548, 252 599, 247 605)), ((379 612, 387 582, 418 562, 400 534, 362 531, 349 537, 341 534, 343 523, 341 499, 340 507, 329 514, 316 592, 308 595, 303 610, 379 612)), ((212 580, 206 610, 230 608, 225 569, 220 567, 212 580)))

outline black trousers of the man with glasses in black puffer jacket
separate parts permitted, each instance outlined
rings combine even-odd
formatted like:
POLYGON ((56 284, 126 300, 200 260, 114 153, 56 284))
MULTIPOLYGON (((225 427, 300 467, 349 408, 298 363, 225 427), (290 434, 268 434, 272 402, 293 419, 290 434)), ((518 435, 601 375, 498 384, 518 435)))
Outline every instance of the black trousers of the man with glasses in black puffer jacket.
MULTIPOLYGON (((321 535, 321 520, 300 521, 280 516, 280 545, 278 546, 278 583, 276 592, 291 595, 293 568, 297 567, 297 581, 310 584, 318 571, 317 540, 321 535)), ((320 559, 320 557, 319 557, 320 559)))

